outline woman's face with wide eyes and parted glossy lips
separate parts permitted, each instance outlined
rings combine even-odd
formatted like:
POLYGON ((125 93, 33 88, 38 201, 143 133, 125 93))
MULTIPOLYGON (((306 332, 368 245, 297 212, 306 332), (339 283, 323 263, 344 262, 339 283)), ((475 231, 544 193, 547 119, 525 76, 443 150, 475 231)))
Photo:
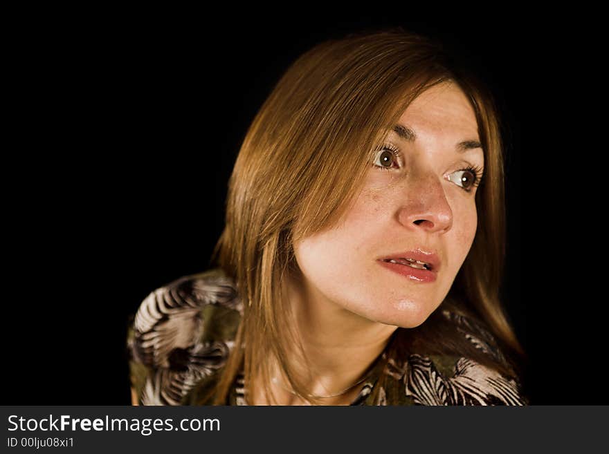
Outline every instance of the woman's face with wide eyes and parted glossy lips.
POLYGON ((295 252, 311 294, 365 319, 414 328, 442 303, 473 243, 484 154, 473 143, 480 142, 473 109, 455 84, 422 93, 399 125, 414 137, 392 131, 341 223, 295 252), (410 251, 436 254, 435 268, 423 272, 431 280, 382 260, 410 251))

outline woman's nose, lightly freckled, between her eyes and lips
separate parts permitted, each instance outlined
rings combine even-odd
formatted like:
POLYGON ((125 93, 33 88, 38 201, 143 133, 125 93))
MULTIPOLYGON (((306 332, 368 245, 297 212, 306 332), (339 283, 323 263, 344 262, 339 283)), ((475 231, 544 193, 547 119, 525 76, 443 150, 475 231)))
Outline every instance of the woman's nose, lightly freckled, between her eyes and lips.
POLYGON ((423 229, 428 233, 451 229, 453 210, 446 199, 442 180, 437 175, 410 176, 403 193, 404 203, 398 216, 404 227, 423 229))

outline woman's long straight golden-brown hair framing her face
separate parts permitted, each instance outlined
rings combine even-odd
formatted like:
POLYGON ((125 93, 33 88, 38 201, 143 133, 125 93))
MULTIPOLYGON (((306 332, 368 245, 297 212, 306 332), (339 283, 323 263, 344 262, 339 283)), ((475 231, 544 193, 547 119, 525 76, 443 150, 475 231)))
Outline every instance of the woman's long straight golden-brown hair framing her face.
MULTIPOLYGON (((522 359, 524 352, 499 296, 505 202, 493 97, 453 61, 440 41, 399 27, 367 30, 329 39, 298 57, 246 133, 228 183, 226 226, 210 261, 235 279, 244 303, 235 348, 213 390, 213 404, 226 404, 242 367, 246 395, 254 395, 250 377, 270 383, 271 358, 293 390, 307 395, 289 361, 291 346, 300 343, 289 304, 281 297, 285 277, 297 267, 293 244, 337 223, 387 131, 417 95, 446 81, 458 84, 471 102, 485 175, 475 195, 478 231, 441 308, 450 306, 485 323, 510 361, 493 361, 464 343, 438 316, 439 310, 417 328, 398 328, 390 348, 403 354, 415 348, 457 352, 501 372, 516 373, 516 355, 522 359)), ((264 392, 270 401, 267 387, 264 392)))

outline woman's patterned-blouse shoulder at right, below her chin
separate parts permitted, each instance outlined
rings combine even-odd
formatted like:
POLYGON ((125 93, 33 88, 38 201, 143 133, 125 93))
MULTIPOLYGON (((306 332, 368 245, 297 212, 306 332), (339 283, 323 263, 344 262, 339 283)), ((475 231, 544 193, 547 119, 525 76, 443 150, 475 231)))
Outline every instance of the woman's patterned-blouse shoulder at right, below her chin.
MULTIPOLYGON (((507 364, 496 337, 484 323, 464 312, 442 310, 444 319, 492 362, 507 364)), ((384 370, 390 376, 377 404, 410 405, 528 405, 516 374, 499 372, 462 354, 410 353, 390 357, 384 370)))

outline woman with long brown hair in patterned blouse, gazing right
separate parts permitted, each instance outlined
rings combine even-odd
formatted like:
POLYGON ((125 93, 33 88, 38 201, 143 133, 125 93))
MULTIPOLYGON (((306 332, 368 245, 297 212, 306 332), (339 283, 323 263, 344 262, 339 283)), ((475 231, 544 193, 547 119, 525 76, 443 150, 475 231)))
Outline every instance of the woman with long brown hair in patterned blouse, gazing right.
POLYGON ((210 269, 129 328, 134 404, 522 405, 491 95, 401 28, 294 62, 239 151, 210 269))

